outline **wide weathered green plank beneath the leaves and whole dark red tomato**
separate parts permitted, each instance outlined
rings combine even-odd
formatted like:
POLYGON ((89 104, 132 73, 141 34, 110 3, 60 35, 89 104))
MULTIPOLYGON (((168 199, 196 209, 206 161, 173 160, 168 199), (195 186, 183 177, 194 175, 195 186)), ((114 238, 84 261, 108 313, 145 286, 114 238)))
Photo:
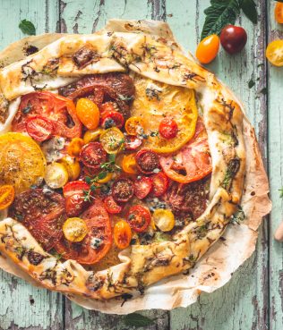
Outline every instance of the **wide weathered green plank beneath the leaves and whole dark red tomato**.
MULTIPOLYGON (((181 1, 176 5, 167 2, 167 21, 184 47, 195 51, 204 21, 203 10, 209 0, 181 1), (195 36, 197 35, 197 36, 195 36), (195 38, 197 37, 197 38, 195 38)), ((223 50, 218 58, 208 65, 220 80, 227 83, 241 97, 247 114, 254 124, 260 140, 263 157, 266 155, 266 102, 259 93, 265 87, 264 35, 265 2, 259 2, 261 14, 257 26, 241 17, 248 33, 245 50, 230 56, 223 50), (248 81, 253 79, 253 89, 248 81)), ((170 313, 171 330, 179 329, 267 329, 268 328, 268 234, 264 224, 257 245, 257 253, 244 263, 232 280, 217 292, 202 294, 199 301, 187 309, 176 309, 170 313)))

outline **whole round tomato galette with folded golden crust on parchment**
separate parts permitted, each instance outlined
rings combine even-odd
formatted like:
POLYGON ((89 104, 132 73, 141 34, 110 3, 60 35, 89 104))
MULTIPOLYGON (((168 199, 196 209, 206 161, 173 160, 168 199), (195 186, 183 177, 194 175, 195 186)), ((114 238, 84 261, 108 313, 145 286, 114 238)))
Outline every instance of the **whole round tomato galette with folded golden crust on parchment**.
POLYGON ((0 71, 0 251, 95 300, 194 267, 243 195, 238 101, 133 24, 58 36, 0 71))

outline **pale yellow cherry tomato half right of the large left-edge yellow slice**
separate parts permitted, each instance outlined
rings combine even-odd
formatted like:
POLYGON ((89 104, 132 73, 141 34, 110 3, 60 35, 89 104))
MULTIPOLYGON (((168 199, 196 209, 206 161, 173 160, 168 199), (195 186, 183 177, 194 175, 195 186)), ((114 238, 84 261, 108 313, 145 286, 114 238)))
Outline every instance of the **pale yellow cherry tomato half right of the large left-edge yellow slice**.
POLYGON ((55 162, 47 165, 44 180, 50 188, 58 189, 64 187, 69 180, 69 176, 64 165, 55 162))

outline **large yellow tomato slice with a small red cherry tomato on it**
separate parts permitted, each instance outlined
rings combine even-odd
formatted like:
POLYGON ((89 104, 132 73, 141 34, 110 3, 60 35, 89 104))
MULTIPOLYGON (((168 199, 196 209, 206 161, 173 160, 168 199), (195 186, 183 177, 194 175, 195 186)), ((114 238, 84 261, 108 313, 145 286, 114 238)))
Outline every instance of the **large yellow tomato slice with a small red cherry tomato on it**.
POLYGON ((183 147, 193 138, 198 117, 193 89, 185 89, 137 76, 134 80, 135 99, 132 115, 142 118, 144 147, 157 153, 170 153, 183 147), (174 118, 178 132, 173 139, 159 134, 159 123, 174 118))

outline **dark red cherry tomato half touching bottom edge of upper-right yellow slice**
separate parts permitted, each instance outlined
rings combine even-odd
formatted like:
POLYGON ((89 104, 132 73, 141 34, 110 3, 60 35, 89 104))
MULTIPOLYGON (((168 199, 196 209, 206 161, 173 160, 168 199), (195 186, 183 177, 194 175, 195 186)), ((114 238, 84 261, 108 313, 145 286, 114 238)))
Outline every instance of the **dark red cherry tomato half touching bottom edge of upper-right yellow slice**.
POLYGON ((160 167, 159 155, 150 149, 143 148, 136 155, 135 160, 142 173, 154 173, 160 167))

